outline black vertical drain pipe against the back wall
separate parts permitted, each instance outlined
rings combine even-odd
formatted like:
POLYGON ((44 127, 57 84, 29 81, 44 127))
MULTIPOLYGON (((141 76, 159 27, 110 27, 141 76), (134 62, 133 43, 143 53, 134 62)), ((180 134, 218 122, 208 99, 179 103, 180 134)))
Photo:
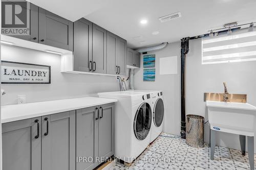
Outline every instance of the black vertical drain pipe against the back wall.
POLYGON ((189 51, 189 37, 181 39, 181 138, 186 138, 186 54, 189 51))

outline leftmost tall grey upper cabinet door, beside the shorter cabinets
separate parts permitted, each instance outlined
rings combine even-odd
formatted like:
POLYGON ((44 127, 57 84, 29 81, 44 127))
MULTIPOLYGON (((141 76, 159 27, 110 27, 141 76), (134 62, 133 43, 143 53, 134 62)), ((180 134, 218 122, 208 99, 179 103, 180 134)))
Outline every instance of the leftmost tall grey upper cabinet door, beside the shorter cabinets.
POLYGON ((74 22, 74 70, 92 71, 92 22, 84 18, 74 22))

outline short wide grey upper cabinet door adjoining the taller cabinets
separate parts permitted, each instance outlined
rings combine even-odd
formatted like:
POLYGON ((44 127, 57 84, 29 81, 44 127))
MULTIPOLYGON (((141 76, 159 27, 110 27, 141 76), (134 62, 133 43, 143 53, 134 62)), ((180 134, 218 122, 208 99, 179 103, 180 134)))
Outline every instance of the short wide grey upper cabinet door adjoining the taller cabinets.
POLYGON ((39 8, 39 43, 73 51, 73 22, 39 8))

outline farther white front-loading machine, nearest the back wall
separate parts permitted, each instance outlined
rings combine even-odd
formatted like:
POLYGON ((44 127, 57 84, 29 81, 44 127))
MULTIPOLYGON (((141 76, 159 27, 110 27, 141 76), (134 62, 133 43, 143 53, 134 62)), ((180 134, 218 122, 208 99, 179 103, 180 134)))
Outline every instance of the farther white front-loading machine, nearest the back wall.
POLYGON ((151 126, 151 140, 153 142, 163 130, 164 104, 163 92, 160 90, 133 90, 134 92, 150 93, 153 119, 151 126))

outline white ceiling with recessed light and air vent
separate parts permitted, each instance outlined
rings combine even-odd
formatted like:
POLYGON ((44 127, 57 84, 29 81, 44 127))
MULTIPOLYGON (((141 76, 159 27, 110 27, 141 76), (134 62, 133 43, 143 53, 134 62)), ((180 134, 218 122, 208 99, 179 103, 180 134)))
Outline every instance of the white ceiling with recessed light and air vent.
POLYGON ((256 21, 255 0, 28 0, 71 21, 84 17, 138 48, 205 34, 225 23, 256 21), (159 17, 182 17, 160 22, 159 17), (140 20, 146 19, 142 25, 140 20), (158 31, 159 34, 152 33, 158 31))

